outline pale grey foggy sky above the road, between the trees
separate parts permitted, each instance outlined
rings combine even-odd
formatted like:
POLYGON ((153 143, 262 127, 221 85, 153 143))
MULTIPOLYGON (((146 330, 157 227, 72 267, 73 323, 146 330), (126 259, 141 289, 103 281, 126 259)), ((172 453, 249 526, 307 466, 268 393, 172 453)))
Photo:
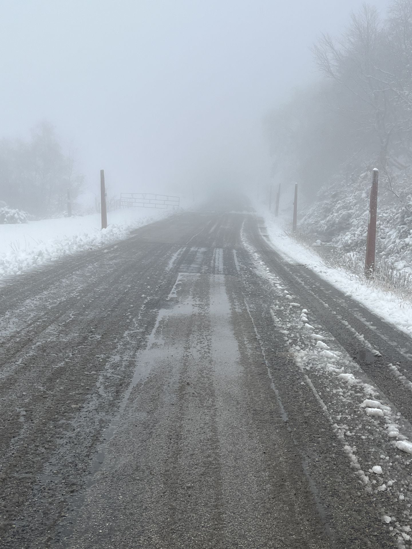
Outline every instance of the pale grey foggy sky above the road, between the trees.
POLYGON ((112 191, 269 180, 264 114, 362 3, 2 0, 0 137, 48 120, 112 191))

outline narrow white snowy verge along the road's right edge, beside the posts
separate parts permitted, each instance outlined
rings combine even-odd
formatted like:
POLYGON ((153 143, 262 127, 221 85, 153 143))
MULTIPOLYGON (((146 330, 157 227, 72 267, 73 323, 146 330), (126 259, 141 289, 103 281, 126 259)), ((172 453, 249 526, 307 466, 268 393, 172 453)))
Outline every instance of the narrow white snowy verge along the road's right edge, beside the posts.
POLYGON ((308 250, 285 234, 282 220, 277 221, 268 210, 256 206, 258 214, 265 220, 268 235, 274 248, 289 261, 308 266, 327 282, 349 294, 370 311, 398 329, 412 335, 412 303, 403 301, 391 292, 368 285, 352 273, 327 267, 315 251, 308 250))

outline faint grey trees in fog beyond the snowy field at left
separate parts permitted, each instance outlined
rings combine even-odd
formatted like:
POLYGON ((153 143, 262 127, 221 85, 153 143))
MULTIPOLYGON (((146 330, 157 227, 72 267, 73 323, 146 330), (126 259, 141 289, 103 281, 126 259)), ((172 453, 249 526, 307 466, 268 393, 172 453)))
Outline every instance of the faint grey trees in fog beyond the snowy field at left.
MULTIPOLYGON (((82 183, 73 153, 63 152, 50 124, 36 126, 28 141, 0 140, 0 200, 13 210, 25 210, 38 218, 62 214, 68 189, 74 200, 82 183)), ((23 217, 15 214, 15 219, 23 217)), ((0 221, 4 222, 10 221, 0 221)))

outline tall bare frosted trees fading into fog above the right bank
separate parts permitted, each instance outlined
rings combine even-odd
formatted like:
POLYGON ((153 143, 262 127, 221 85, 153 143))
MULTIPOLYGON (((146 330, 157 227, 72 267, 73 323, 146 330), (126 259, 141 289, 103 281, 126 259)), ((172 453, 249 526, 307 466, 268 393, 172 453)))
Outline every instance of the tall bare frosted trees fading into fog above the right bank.
POLYGON ((336 175, 378 166, 389 180, 412 164, 412 0, 352 14, 338 38, 313 48, 321 79, 271 113, 266 131, 282 179, 307 194, 336 175))

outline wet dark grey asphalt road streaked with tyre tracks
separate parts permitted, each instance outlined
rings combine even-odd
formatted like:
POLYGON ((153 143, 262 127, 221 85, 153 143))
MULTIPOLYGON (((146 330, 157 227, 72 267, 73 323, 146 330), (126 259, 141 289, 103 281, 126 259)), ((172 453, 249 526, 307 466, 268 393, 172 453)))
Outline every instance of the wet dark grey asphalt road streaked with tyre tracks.
POLYGON ((407 336, 283 259, 250 212, 176 215, 2 285, 0 547, 401 547, 408 455, 336 401, 349 433, 376 429, 350 447, 364 469, 387 455, 403 507, 361 483, 292 308, 274 322, 277 286, 408 429, 407 336))

